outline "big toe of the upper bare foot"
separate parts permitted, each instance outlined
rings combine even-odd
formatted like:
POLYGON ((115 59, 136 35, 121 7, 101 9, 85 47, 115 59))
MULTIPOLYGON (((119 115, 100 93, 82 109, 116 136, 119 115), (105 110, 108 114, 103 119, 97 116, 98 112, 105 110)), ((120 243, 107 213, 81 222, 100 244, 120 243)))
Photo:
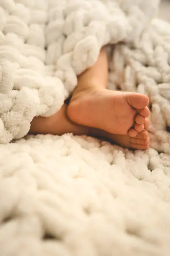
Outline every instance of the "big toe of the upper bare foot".
POLYGON ((143 109, 149 104, 148 97, 139 93, 128 93, 127 99, 129 105, 136 109, 143 109))

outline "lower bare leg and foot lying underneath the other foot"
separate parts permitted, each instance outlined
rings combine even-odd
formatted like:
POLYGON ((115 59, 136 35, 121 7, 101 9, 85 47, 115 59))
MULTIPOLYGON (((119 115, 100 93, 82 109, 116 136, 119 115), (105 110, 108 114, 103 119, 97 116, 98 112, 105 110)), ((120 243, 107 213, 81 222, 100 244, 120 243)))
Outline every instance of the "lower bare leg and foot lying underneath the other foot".
MULTIPOLYGON (((103 138, 120 146, 134 149, 146 149, 149 146, 148 131, 138 133, 136 138, 130 138, 128 135, 116 135, 107 133, 95 128, 88 128, 72 123, 66 115, 67 105, 49 118, 35 117, 32 120, 30 134, 53 134, 62 135, 64 133, 73 133, 75 135, 87 135, 97 138, 103 138)), ((145 122, 147 126, 147 122, 145 122)))

